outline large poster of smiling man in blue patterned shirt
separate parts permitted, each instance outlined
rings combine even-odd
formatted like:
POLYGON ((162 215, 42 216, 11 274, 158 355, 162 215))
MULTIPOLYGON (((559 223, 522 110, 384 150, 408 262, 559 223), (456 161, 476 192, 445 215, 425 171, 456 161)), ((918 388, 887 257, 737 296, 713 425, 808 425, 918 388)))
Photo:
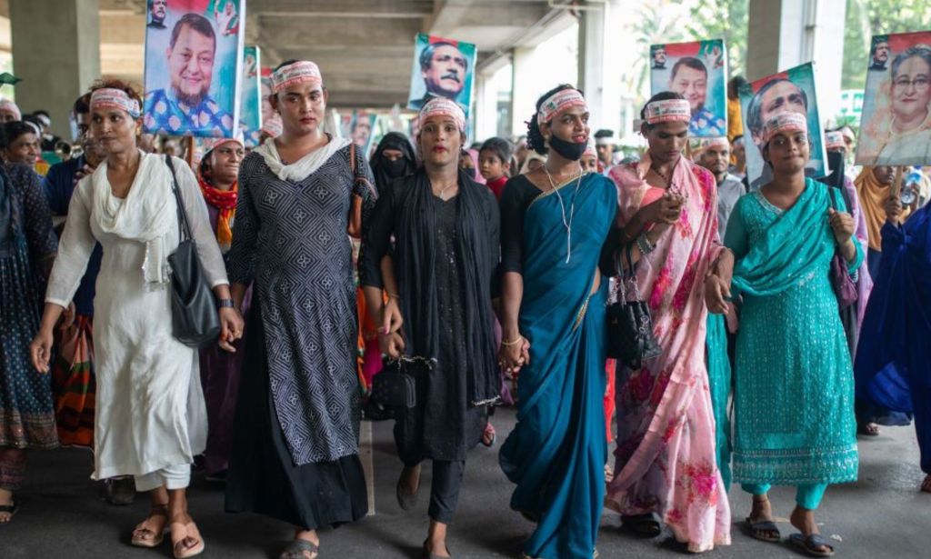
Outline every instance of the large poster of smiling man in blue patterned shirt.
POLYGON ((234 136, 245 9, 246 0, 148 0, 145 132, 234 136))

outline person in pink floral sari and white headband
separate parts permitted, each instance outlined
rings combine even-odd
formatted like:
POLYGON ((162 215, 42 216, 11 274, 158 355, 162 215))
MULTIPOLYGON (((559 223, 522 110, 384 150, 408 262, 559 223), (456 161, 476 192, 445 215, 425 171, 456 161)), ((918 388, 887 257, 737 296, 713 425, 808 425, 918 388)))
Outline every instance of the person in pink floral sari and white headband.
POLYGON ((707 170, 681 156, 687 101, 660 93, 641 116, 649 150, 610 177, 663 353, 639 370, 617 372, 616 462, 606 505, 628 529, 658 536, 665 522, 690 552, 705 552, 730 543, 731 523, 705 365, 703 286, 721 251, 717 188, 707 170))

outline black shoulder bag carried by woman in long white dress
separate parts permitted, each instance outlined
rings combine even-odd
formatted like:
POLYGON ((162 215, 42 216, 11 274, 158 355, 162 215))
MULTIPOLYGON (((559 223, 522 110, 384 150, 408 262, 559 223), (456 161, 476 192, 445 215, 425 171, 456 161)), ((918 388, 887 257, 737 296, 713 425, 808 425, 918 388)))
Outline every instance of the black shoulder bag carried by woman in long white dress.
POLYGON ((171 171, 171 191, 178 203, 178 248, 169 256, 171 269, 171 334, 184 345, 203 348, 214 343, 220 335, 220 316, 217 303, 207 282, 197 244, 191 235, 191 224, 187 220, 178 177, 175 175, 171 157, 165 156, 171 171))

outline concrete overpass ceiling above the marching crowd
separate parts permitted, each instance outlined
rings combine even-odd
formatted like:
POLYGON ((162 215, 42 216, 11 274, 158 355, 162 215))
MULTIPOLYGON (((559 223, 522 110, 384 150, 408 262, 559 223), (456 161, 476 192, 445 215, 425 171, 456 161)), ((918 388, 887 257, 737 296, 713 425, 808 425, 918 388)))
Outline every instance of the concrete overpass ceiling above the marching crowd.
MULTIPOLYGON (((141 81, 146 0, 99 1, 103 73, 141 81)), ((262 47, 263 65, 314 60, 332 106, 377 108, 407 100, 416 33, 476 43, 480 64, 561 10, 546 0, 249 0, 246 11, 246 43, 262 47)))

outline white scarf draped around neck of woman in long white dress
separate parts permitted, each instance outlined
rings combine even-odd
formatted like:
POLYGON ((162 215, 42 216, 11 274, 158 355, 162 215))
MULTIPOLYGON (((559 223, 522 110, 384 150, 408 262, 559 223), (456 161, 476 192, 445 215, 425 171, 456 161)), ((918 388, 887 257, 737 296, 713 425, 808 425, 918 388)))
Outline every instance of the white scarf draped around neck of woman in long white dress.
POLYGON ((147 283, 169 281, 166 236, 178 226, 177 204, 171 193, 171 171, 162 156, 140 151, 139 170, 126 198, 113 195, 104 161, 90 176, 90 219, 101 231, 145 243, 142 274, 147 283))

